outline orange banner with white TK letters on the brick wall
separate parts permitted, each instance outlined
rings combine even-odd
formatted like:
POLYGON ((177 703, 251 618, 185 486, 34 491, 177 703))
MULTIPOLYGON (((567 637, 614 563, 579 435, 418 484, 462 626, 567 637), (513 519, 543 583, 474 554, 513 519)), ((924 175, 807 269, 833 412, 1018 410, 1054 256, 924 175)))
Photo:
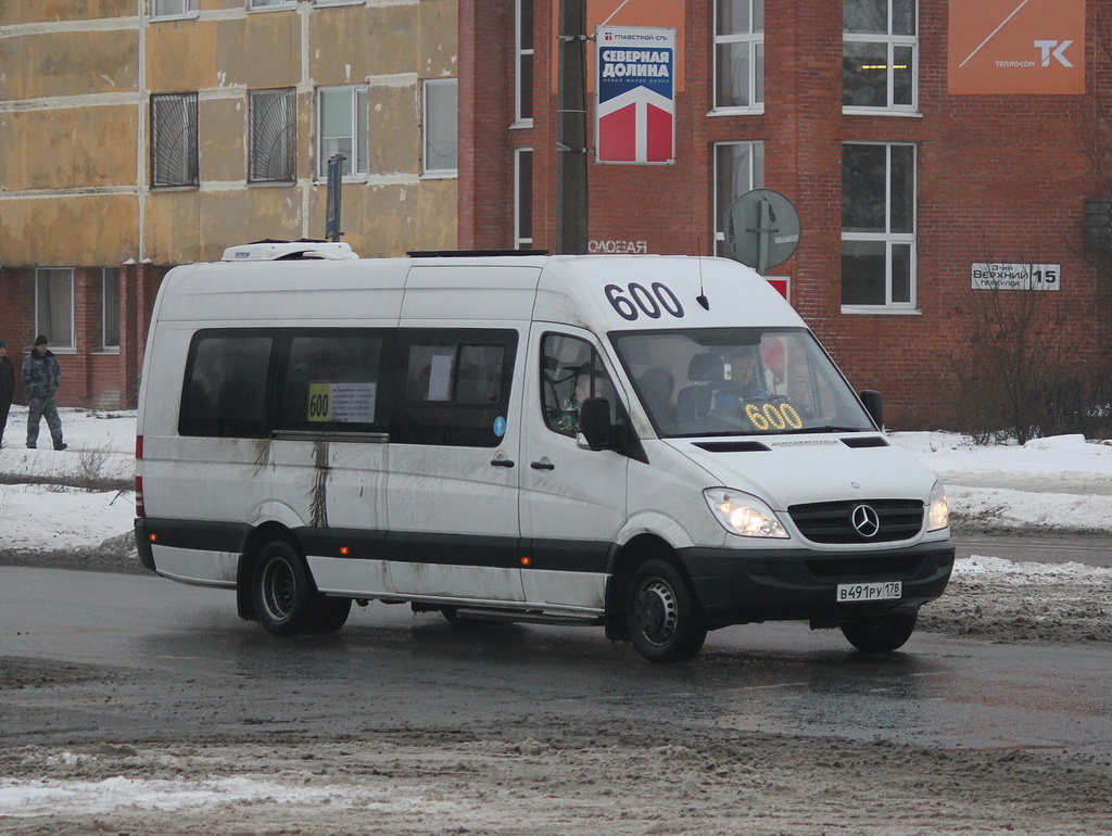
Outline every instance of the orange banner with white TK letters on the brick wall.
POLYGON ((1085 92, 1085 0, 950 0, 951 96, 1085 92))

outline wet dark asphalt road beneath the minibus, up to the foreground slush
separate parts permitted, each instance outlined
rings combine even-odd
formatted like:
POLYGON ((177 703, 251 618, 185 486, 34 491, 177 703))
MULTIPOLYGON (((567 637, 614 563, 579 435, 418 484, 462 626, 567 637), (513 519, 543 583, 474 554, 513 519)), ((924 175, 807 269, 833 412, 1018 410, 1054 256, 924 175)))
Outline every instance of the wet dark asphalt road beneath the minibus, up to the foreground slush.
POLYGON ((598 628, 453 628, 356 609, 331 637, 277 639, 234 595, 157 577, 0 567, 0 657, 78 666, 77 684, 0 690, 0 744, 336 738, 381 732, 744 732, 1029 749, 1112 772, 1112 650, 916 634, 886 657, 837 631, 749 625, 676 666, 598 628))

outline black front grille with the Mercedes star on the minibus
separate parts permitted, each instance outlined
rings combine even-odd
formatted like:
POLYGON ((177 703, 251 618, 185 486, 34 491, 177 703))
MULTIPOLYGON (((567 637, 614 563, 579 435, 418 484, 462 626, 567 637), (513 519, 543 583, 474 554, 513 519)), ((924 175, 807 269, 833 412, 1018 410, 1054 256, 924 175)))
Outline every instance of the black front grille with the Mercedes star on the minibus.
POLYGON ((915 499, 853 499, 840 502, 811 502, 793 505, 787 509, 800 531, 812 543, 894 543, 914 537, 923 528, 923 502, 915 499), (875 518, 862 507, 875 511, 875 518), (876 533, 870 525, 854 527, 858 519, 875 521, 876 533), (862 534, 865 531, 866 534, 862 534))

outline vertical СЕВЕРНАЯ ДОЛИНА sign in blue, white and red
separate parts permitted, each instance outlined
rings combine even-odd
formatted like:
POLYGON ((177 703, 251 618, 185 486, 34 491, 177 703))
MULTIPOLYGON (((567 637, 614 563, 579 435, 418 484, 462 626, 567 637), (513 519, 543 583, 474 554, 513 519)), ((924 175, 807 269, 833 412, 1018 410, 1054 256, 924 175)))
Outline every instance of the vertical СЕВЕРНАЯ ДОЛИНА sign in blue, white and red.
POLYGON ((595 160, 676 160, 676 30, 595 28, 595 160))

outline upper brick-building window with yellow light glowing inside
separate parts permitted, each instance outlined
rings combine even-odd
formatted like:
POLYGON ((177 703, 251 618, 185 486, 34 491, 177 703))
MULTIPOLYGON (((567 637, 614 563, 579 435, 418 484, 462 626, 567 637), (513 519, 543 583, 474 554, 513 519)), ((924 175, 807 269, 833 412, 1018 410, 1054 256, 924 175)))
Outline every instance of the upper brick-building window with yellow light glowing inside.
POLYGON ((843 0, 842 104, 914 112, 919 106, 916 0, 843 0))

